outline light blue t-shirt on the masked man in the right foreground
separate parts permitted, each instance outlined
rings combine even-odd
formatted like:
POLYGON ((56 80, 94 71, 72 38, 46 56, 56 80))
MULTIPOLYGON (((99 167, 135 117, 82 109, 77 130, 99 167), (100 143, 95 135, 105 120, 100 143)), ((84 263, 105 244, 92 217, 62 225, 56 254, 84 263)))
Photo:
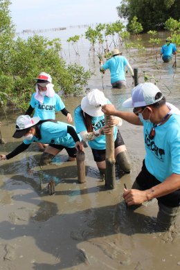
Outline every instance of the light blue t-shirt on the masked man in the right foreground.
POLYGON ((180 174, 180 115, 172 114, 167 122, 155 127, 154 139, 149 134, 153 124, 143 121, 145 166, 163 182, 170 174, 180 174))

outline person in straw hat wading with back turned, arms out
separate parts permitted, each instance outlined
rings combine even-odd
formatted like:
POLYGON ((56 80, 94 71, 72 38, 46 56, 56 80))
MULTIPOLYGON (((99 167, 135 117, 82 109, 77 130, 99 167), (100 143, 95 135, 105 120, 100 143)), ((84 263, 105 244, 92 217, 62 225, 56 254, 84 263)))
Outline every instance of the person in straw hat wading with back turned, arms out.
POLYGON ((115 48, 112 52, 112 57, 103 64, 102 60, 100 60, 100 71, 106 71, 109 69, 111 73, 111 84, 112 88, 122 89, 126 87, 126 79, 125 79, 125 67, 129 70, 129 72, 134 77, 134 72, 129 62, 127 61, 125 56, 122 56, 122 53, 115 48))

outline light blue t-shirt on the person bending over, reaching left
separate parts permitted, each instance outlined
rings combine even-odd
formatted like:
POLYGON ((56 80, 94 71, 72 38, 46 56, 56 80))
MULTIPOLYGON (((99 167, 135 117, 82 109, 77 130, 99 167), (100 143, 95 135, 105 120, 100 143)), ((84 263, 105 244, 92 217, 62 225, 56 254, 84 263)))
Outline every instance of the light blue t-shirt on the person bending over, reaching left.
MULTIPOLYGON (((31 140, 24 140, 26 145, 30 145, 33 142, 38 143, 53 143, 56 145, 63 145, 66 147, 75 147, 75 141, 69 133, 67 133, 67 126, 69 124, 57 121, 57 123, 53 122, 44 122, 40 126, 40 134, 42 138, 39 140, 36 136, 33 136, 31 140)), ((71 125, 73 127, 73 125, 71 125)), ((75 127, 73 127, 75 129, 75 127)), ((78 134, 78 137, 81 137, 78 134)))

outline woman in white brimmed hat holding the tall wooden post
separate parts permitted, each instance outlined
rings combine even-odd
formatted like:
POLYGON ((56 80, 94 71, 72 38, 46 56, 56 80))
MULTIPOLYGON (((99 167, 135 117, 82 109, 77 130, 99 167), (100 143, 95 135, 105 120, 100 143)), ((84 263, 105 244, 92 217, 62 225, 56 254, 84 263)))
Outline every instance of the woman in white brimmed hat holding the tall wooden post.
MULTIPOLYGON (((74 111, 76 132, 80 133, 83 141, 87 141, 93 152, 94 161, 100 171, 100 176, 105 175, 105 134, 109 134, 110 128, 105 125, 105 115, 101 106, 110 103, 104 93, 93 89, 82 98, 81 105, 74 111)), ((114 125, 115 159, 121 170, 130 172, 130 163, 127 158, 127 150, 116 125, 122 125, 120 118, 111 118, 109 125, 114 125)))

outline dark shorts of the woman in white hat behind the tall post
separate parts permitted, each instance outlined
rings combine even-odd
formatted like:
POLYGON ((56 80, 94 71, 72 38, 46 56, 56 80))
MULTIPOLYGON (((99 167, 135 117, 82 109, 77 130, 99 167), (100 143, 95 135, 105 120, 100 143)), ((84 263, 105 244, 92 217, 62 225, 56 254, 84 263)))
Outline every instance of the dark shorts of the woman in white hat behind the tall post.
MULTIPOLYGON (((117 138, 116 141, 114 142, 114 148, 117 148, 120 145, 124 145, 124 141, 122 136, 120 135, 120 132, 118 131, 117 133, 117 138)), ((93 152, 93 159, 96 162, 101 162, 101 161, 105 161, 106 159, 106 150, 98 150, 98 149, 92 149, 93 152)))

